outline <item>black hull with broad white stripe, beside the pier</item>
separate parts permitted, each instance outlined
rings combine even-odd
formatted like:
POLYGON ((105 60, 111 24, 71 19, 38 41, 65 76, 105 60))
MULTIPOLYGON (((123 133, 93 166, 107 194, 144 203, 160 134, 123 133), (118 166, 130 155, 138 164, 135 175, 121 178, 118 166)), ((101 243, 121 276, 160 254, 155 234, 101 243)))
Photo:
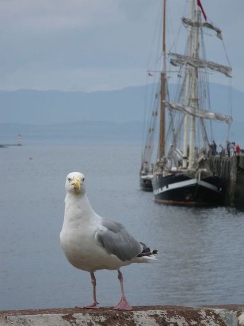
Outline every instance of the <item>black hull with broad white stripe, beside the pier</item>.
POLYGON ((163 204, 220 205, 222 182, 219 177, 194 179, 183 173, 160 175, 152 181, 155 201, 163 204))

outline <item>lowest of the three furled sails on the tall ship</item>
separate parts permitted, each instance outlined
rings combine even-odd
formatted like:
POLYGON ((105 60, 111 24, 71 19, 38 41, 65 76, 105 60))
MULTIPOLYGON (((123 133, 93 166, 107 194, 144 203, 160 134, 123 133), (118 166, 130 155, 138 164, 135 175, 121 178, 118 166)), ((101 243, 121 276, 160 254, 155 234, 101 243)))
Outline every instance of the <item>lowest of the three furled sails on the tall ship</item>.
POLYGON ((211 111, 203 110, 203 109, 194 109, 191 107, 184 106, 180 103, 165 102, 165 106, 168 107, 168 109, 170 109, 170 110, 176 110, 176 111, 180 111, 183 113, 188 113, 190 115, 194 115, 199 118, 225 121, 228 124, 230 124, 232 122, 232 118, 228 115, 211 112, 211 111))

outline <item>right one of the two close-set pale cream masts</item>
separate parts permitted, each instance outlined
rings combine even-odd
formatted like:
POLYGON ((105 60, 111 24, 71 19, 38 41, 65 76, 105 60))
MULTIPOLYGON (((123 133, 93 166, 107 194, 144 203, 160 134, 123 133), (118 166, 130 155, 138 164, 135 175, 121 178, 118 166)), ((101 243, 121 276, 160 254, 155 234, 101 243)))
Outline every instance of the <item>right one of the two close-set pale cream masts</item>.
MULTIPOLYGON (((199 9, 196 9, 196 21, 199 22, 199 9)), ((198 58, 198 48, 199 48, 199 28, 195 27, 195 43, 194 43, 194 58, 198 58)), ((193 80, 192 80, 192 107, 195 109, 196 108, 196 103, 197 103, 197 78, 198 78, 198 69, 197 67, 193 68, 193 80)), ((195 158, 195 142, 194 142, 194 137, 195 137, 195 116, 191 116, 191 123, 190 123, 190 149, 189 149, 189 169, 193 168, 194 165, 194 158, 195 158)))

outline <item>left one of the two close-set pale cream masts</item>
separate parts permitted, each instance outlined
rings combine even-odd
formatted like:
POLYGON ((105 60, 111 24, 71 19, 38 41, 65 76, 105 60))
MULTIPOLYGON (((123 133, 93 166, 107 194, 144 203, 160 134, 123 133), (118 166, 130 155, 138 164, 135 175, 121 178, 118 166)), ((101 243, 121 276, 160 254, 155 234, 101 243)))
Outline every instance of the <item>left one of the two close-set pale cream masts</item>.
MULTIPOLYGON (((190 20, 193 19, 194 12, 194 1, 191 1, 190 8, 190 20)), ((191 56, 191 48, 192 48, 192 26, 189 25, 189 35, 188 35, 188 48, 187 48, 187 56, 191 56)), ((185 89, 185 105, 189 104, 189 96, 190 96, 190 67, 186 65, 186 89, 185 89)), ((188 114, 184 116, 184 136, 183 136, 183 168, 187 167, 187 147, 188 147, 188 114)))

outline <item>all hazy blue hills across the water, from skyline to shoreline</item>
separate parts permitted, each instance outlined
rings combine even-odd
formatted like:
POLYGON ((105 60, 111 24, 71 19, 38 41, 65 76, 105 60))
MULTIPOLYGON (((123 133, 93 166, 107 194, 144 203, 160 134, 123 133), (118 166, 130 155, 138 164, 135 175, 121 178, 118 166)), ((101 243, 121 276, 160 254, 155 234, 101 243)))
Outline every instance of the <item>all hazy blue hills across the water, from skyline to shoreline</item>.
MULTIPOLYGON (((153 85, 149 86, 149 94, 153 85)), ((211 107, 229 114, 229 88, 212 84, 211 107)), ((92 93, 18 90, 0 91, 0 144, 17 141, 142 141, 145 87, 92 93)), ((244 146, 244 93, 232 90, 230 140, 244 146)), ((215 140, 224 142, 220 123, 215 140)))

